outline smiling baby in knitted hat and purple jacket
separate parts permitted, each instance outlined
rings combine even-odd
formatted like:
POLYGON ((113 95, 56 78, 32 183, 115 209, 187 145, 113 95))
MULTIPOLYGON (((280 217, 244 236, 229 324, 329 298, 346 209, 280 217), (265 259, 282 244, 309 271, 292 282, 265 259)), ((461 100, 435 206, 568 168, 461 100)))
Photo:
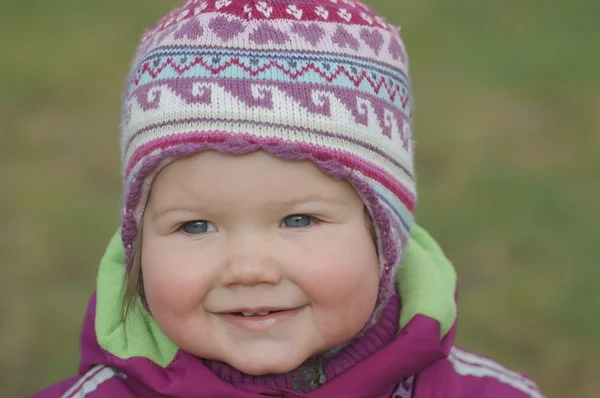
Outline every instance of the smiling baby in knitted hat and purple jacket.
POLYGON ((349 0, 191 0, 123 96, 122 225, 79 375, 36 398, 541 398, 453 346, 414 222, 398 29, 349 0))

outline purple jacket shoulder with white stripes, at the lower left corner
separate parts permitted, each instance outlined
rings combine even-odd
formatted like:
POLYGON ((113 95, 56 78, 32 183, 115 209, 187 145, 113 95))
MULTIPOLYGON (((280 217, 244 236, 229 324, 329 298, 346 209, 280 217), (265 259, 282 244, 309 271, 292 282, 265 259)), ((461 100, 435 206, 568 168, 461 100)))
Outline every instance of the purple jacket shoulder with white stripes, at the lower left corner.
POLYGON ((63 380, 33 395, 31 398, 135 398, 123 376, 116 370, 98 365, 87 373, 63 380))

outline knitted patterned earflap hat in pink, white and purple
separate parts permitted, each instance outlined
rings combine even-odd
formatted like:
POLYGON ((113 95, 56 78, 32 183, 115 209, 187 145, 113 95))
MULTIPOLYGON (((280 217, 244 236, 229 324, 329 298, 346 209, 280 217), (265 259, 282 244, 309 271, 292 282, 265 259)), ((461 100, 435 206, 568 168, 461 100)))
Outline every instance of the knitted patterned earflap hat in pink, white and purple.
POLYGON ((350 0, 190 0, 142 37, 123 96, 122 238, 156 173, 206 149, 309 159, 347 179, 375 223, 378 309, 416 202, 412 95, 398 29, 350 0))

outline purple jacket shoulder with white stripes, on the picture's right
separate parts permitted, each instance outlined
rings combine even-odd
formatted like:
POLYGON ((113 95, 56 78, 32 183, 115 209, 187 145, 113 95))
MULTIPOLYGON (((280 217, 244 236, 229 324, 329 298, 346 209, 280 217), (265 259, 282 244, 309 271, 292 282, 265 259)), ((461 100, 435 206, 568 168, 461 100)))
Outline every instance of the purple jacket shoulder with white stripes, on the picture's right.
POLYGON ((414 398, 545 398, 527 375, 457 347, 418 375, 415 387, 414 398))

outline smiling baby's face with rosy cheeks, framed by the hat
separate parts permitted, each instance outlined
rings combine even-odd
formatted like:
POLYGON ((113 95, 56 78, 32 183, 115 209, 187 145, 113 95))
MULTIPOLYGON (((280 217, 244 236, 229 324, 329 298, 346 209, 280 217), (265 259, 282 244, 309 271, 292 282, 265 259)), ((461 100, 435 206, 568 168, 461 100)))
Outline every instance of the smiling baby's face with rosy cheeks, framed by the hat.
POLYGON ((142 270, 150 310, 175 344, 252 375, 288 372, 349 341, 379 285, 352 186, 264 152, 207 151, 165 167, 144 215, 142 270))

